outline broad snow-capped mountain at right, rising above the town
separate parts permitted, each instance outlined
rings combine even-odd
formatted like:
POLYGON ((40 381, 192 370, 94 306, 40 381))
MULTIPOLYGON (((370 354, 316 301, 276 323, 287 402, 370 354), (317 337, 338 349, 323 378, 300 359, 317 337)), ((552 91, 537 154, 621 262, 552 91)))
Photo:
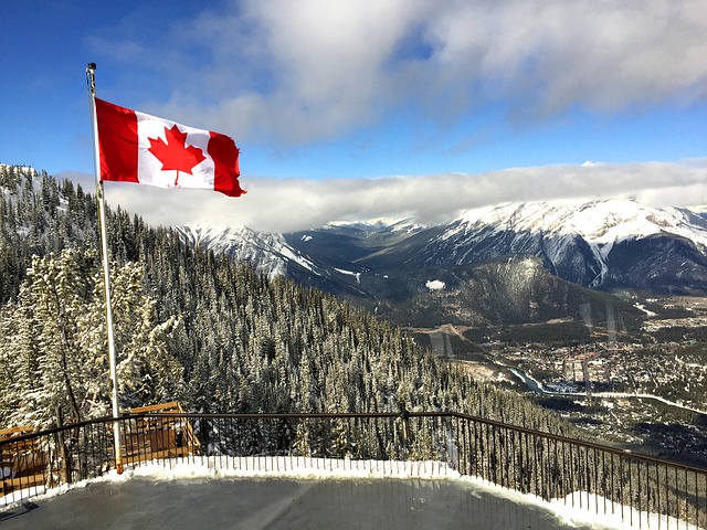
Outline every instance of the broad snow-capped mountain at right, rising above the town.
POLYGON ((516 203, 464 212, 421 234, 401 263, 465 265, 534 255, 552 274, 594 288, 705 288, 707 222, 686 208, 633 201, 516 203))

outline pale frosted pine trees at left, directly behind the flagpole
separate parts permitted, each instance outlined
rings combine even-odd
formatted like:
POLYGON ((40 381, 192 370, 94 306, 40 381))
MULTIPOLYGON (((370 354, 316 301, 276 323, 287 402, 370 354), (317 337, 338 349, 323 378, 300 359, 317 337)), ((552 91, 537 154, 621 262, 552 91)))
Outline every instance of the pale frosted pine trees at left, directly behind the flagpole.
MULTIPOLYGON (((158 324, 143 294, 141 267, 113 273, 123 405, 179 399, 181 365, 169 354, 176 320, 158 324)), ((0 381, 4 425, 50 427, 109 414, 102 274, 93 252, 35 256, 17 304, 0 319, 0 381)))

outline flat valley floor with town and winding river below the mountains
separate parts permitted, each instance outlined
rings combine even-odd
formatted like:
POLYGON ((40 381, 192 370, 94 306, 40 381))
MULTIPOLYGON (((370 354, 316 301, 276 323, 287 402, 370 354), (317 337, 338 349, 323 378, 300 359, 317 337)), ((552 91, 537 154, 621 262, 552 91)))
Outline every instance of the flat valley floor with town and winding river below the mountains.
POLYGON ((569 321, 483 330, 414 328, 416 340, 476 379, 530 395, 585 433, 616 447, 707 465, 707 299, 675 297, 632 330, 593 330, 562 343, 569 321), (682 317, 675 316, 682 312, 682 317), (546 341, 523 341, 540 328, 546 341))

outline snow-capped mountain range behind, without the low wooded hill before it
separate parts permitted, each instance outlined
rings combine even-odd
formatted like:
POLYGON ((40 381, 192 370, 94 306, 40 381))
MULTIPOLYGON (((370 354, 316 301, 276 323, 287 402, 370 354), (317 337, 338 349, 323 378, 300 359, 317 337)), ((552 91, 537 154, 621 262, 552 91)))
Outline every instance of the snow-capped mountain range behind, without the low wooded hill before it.
POLYGON ((393 272, 415 275, 510 256, 535 256, 550 274, 584 287, 690 294, 707 285, 707 219, 694 209, 633 200, 506 203, 430 227, 377 219, 292 234, 203 225, 182 233, 268 276, 372 299, 376 289, 392 285, 387 278, 393 272), (356 274, 356 282, 341 287, 340 271, 356 274))

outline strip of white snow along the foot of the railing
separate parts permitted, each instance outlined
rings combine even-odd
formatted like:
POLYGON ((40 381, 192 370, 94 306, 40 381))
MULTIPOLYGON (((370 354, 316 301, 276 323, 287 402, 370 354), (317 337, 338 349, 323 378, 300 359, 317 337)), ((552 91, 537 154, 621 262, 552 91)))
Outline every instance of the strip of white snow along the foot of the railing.
MULTIPOLYGON (((592 494, 576 491, 564 499, 550 502, 532 495, 524 495, 496 486, 486 480, 460 475, 456 470, 441 462, 391 462, 391 460, 350 460, 308 457, 193 457, 188 459, 159 460, 138 466, 127 466, 125 473, 118 475, 109 471, 106 475, 83 480, 73 485, 63 485, 53 489, 32 489, 31 491, 11 492, 3 500, 8 502, 6 510, 17 506, 23 499, 32 497, 41 501, 57 495, 66 494, 88 484, 127 481, 131 478, 148 478, 156 481, 184 479, 228 479, 228 478, 288 478, 295 480, 326 479, 434 479, 450 480, 471 495, 486 492, 518 505, 540 507, 555 513, 568 528, 621 529, 621 528, 658 528, 658 516, 640 513, 626 507, 613 504, 592 494), (632 524, 633 522, 633 524, 632 524), (631 526, 632 524, 632 526, 631 526)), ((698 530, 694 526, 666 518, 659 521, 659 528, 682 528, 698 530)))

